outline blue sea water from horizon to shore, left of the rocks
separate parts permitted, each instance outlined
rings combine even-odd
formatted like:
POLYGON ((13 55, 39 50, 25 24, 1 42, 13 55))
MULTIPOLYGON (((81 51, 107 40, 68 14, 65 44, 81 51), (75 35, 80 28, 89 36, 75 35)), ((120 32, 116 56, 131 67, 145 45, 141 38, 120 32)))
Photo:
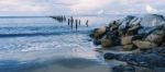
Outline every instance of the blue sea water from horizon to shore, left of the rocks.
POLYGON ((109 72, 88 34, 114 17, 76 17, 77 32, 51 17, 0 19, 0 72, 109 72))

